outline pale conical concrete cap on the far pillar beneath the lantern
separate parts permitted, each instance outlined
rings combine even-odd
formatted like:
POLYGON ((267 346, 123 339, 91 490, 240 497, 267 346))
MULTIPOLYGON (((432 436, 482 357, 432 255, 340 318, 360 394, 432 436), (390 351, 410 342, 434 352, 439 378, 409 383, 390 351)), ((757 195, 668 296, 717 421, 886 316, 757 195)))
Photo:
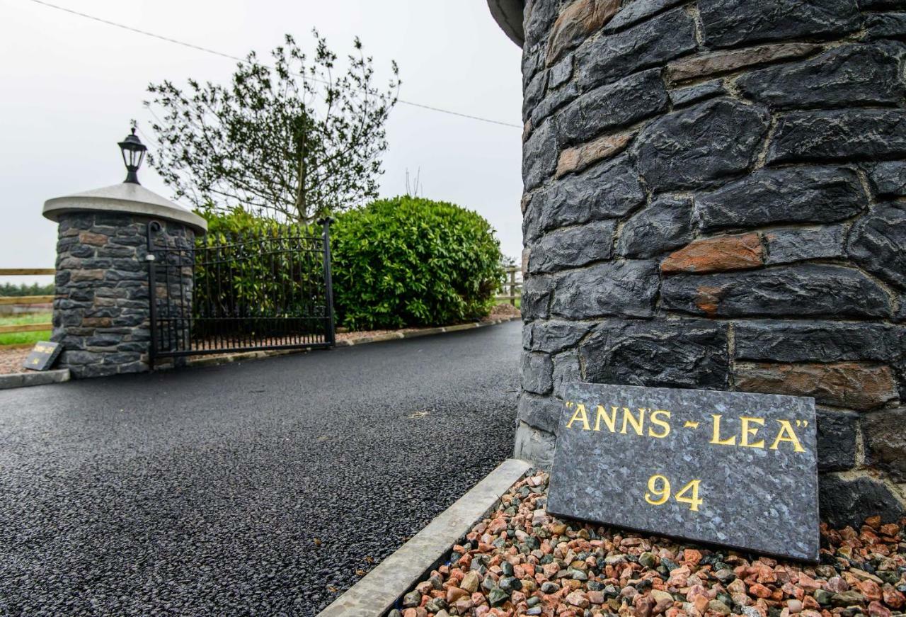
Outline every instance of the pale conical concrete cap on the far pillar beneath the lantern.
POLYGON ((102 189, 93 189, 54 197, 44 201, 43 216, 53 221, 71 212, 121 212, 152 219, 172 220, 186 225, 199 234, 207 233, 207 220, 178 203, 149 191, 140 184, 120 182, 102 189))

